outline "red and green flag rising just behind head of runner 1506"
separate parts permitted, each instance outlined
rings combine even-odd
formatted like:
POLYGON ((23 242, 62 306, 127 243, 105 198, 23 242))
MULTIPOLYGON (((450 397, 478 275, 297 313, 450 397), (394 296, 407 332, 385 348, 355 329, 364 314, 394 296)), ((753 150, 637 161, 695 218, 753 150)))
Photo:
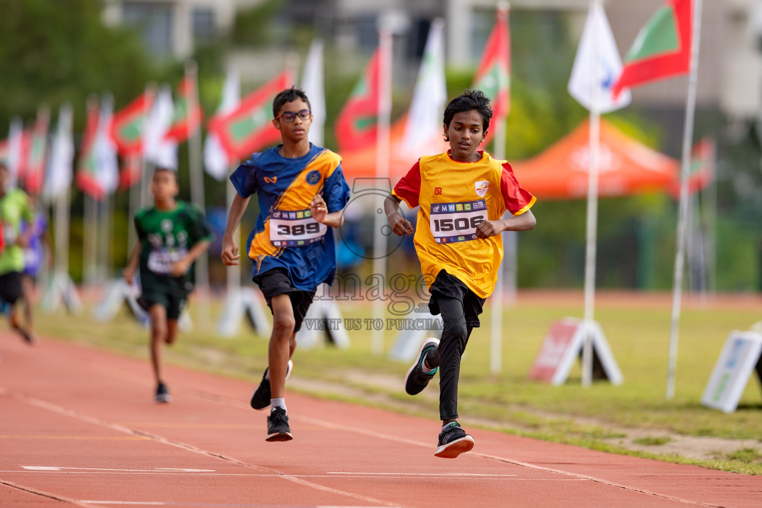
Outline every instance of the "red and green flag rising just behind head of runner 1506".
MULTIPOLYGON (((498 8, 498 20, 489 34, 471 85, 491 99, 494 114, 491 125, 504 122, 511 111, 511 35, 508 30, 508 11, 498 8)), ((485 143, 490 137, 488 135, 485 143)))

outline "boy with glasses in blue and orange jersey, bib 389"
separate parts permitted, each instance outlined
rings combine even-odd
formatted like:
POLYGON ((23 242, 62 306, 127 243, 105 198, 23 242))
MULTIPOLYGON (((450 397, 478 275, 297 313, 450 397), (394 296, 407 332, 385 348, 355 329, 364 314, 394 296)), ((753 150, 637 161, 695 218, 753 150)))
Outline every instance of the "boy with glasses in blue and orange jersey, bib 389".
POLYGON ((303 91, 280 92, 273 101, 273 116, 283 144, 255 153, 230 177, 237 194, 222 257, 227 266, 239 264, 233 233, 256 193, 259 216, 248 236, 247 252, 254 262, 254 282, 273 312, 273 331, 269 363, 251 395, 251 407, 261 411, 271 406, 267 441, 288 441, 293 436, 283 392, 293 369, 296 332, 317 287, 333 283, 336 248, 331 228, 344 220, 341 210, 349 200, 349 186, 341 157, 307 139, 312 113, 303 91))

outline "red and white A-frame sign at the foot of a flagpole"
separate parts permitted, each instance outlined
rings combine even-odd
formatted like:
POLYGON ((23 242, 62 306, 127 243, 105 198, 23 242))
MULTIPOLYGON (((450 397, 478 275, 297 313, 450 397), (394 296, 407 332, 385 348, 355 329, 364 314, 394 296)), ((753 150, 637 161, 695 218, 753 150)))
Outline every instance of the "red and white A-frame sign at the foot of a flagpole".
POLYGON ((591 322, 588 330, 584 321, 577 318, 563 318, 551 324, 543 347, 534 359, 530 379, 563 385, 575 360, 582 353, 587 334, 593 340, 594 374, 600 372, 612 385, 621 385, 624 381, 622 371, 611 353, 604 331, 595 321, 591 322))

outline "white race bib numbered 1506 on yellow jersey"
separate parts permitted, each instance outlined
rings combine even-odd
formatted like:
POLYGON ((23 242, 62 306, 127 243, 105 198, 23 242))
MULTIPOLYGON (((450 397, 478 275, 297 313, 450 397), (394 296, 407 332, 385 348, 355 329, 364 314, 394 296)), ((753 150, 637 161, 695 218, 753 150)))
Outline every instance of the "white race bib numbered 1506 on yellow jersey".
POLYGON ((438 244, 476 239, 476 228, 487 219, 485 200, 463 203, 433 203, 429 224, 438 244))

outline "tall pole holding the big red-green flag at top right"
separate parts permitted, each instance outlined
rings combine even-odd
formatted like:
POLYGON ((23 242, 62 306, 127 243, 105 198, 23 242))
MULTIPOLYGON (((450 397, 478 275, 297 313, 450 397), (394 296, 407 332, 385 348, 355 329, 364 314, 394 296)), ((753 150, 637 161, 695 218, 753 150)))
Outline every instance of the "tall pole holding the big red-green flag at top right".
POLYGON ((696 117, 696 86, 699 81, 699 49, 701 43, 701 11, 703 0, 693 3, 693 40, 690 47, 690 75, 688 97, 685 105, 683 131, 683 165, 680 171, 680 211, 677 216, 677 252, 674 256, 674 283, 672 285, 672 317, 669 336, 669 359, 667 366, 667 400, 674 398, 677 374, 677 339, 680 331, 680 303, 683 297, 683 271, 685 258, 686 222, 688 216, 688 174, 690 152, 693 144, 693 120, 696 117))

